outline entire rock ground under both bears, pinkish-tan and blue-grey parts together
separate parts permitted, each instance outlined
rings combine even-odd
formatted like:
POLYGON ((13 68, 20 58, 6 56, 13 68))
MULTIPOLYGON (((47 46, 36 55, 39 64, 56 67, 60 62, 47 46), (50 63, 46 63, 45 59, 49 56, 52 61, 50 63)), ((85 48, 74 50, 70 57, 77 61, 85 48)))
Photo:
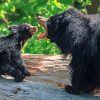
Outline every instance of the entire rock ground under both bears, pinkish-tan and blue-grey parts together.
POLYGON ((23 58, 32 75, 19 83, 8 76, 0 78, 0 100, 100 100, 100 93, 92 96, 65 92, 64 85, 70 84, 70 57, 62 60, 59 55, 26 54, 23 58))

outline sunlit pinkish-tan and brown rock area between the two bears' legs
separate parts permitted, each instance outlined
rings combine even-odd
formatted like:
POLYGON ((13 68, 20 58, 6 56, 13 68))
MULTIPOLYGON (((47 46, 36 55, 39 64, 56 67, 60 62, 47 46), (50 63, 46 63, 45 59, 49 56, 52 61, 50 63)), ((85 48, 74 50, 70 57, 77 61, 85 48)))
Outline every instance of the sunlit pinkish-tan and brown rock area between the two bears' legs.
POLYGON ((63 59, 61 55, 31 55, 22 56, 31 76, 27 80, 46 82, 48 84, 64 87, 70 84, 69 68, 70 56, 63 59))

